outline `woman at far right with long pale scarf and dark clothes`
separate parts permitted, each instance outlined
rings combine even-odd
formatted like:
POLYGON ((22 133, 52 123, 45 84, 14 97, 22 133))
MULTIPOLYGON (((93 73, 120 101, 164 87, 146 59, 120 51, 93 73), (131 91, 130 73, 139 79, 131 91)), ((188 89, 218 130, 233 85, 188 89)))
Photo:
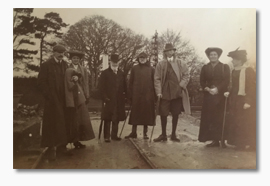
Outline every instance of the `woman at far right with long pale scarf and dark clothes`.
POLYGON ((228 54, 234 69, 232 88, 224 95, 229 96, 229 116, 227 143, 237 149, 256 149, 256 73, 246 65, 245 50, 236 50, 228 54))

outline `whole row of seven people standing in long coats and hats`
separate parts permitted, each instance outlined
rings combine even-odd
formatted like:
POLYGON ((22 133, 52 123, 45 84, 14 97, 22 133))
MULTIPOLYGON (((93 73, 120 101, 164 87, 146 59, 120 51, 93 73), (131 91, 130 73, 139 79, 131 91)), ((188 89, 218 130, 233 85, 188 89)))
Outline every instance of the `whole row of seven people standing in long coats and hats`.
MULTIPOLYGON (((52 58, 41 65, 38 76, 45 97, 41 146, 49 147, 52 160, 56 152, 69 154, 68 143, 84 148, 80 141, 95 138, 87 110, 88 74, 80 64, 84 54, 68 51, 71 64, 67 65, 63 60, 65 51, 65 47, 55 46, 52 58)), ((227 140, 240 149, 256 148, 256 74, 245 65, 246 51, 228 54, 233 59, 233 71, 219 61, 222 49, 207 48, 205 53, 210 62, 202 67, 200 75, 204 98, 199 141, 212 141, 207 147, 226 147, 227 140)), ((154 68, 148 55, 140 53, 128 80, 119 68, 119 55, 110 55, 109 67, 101 72, 98 83, 105 142, 121 140, 118 125, 127 118, 126 102, 131 105, 129 124, 132 125, 126 139, 137 138, 138 125, 143 126, 143 139, 149 139, 148 126, 155 125, 158 114, 162 133, 153 141, 167 141, 167 117, 171 113, 170 139, 180 142, 176 134, 178 117, 181 113, 191 114, 187 91, 190 74, 187 65, 176 57, 176 48, 171 43, 165 45, 163 54, 162 61, 154 68)))

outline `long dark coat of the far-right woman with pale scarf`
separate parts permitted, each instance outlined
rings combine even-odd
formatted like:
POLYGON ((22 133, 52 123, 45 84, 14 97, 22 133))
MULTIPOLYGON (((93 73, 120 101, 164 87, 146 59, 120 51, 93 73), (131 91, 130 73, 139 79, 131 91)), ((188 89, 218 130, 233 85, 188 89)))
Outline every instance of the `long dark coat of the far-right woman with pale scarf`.
POLYGON ((256 147, 256 73, 245 69, 245 95, 238 95, 240 70, 232 72, 232 88, 229 95, 227 143, 236 146, 256 147), (244 109, 244 104, 250 108, 244 109))

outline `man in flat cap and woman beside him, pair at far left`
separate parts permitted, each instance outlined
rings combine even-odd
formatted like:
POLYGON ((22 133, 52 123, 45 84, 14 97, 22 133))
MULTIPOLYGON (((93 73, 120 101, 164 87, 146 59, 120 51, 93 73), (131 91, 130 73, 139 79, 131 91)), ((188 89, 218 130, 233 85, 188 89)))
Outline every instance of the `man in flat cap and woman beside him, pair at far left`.
POLYGON ((65 52, 64 46, 56 45, 38 75, 38 86, 45 98, 41 147, 48 147, 49 160, 55 160, 56 154, 72 155, 68 143, 80 149, 85 148, 80 141, 95 138, 87 108, 88 73, 80 64, 84 54, 68 51, 68 65, 63 60, 65 52))

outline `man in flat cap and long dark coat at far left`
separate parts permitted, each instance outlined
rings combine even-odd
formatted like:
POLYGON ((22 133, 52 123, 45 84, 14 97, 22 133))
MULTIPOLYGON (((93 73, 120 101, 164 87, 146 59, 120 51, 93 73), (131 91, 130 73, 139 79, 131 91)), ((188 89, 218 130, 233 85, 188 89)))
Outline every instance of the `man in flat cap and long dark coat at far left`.
POLYGON ((41 147, 49 147, 49 159, 55 160, 56 147, 67 143, 65 126, 65 85, 67 68, 65 47, 56 45, 53 56, 41 64, 38 86, 45 98, 41 147))

